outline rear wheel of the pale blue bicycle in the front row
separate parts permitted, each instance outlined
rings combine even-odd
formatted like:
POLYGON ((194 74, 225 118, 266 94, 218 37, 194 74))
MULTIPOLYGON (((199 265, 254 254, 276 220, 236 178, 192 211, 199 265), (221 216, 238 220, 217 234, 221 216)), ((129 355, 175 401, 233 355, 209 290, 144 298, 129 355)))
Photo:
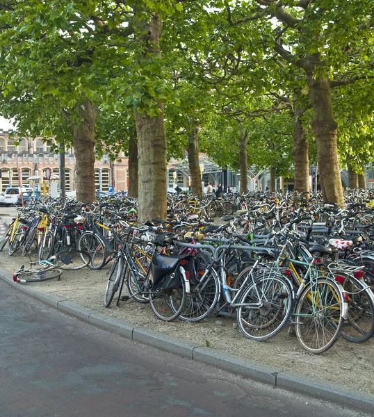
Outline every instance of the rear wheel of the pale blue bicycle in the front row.
POLYGON ((292 290, 282 277, 272 271, 261 275, 243 289, 236 310, 241 333, 256 341, 276 336, 291 316, 293 304, 292 290))

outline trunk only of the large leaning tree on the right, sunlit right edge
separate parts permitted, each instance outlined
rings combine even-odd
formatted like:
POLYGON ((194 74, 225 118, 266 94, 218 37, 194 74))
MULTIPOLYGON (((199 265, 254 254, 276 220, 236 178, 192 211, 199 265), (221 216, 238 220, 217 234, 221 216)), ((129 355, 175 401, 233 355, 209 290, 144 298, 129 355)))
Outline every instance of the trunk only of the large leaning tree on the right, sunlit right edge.
POLYGON ((323 199, 327 202, 335 202, 343 207, 344 197, 336 142, 338 125, 334 120, 330 81, 322 76, 314 77, 313 70, 307 71, 309 95, 314 110, 311 126, 316 136, 318 169, 323 199))

